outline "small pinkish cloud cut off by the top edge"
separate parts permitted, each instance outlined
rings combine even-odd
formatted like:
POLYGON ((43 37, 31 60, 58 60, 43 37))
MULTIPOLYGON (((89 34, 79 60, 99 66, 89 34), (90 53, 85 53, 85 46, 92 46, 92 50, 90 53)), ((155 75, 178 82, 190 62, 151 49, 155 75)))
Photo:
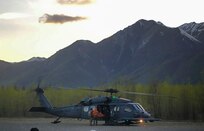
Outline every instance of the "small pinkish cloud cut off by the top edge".
POLYGON ((93 0, 57 0, 57 2, 62 5, 85 5, 92 3, 93 0))

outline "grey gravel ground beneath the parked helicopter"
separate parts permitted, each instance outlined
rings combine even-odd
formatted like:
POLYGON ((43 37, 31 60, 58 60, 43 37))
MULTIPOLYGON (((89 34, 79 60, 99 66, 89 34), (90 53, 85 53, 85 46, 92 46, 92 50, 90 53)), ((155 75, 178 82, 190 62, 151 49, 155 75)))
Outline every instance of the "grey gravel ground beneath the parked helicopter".
POLYGON ((0 131, 204 131, 204 123, 193 122, 154 122, 131 126, 89 126, 89 121, 62 119, 59 124, 51 124, 50 118, 0 118, 0 131))

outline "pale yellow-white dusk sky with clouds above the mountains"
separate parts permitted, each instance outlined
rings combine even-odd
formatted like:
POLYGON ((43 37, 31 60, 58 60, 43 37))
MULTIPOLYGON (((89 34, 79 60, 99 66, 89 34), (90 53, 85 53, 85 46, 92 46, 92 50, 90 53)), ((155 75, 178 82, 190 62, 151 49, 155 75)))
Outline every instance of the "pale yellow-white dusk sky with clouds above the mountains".
POLYGON ((140 19, 204 22, 203 0, 0 0, 0 60, 50 57, 76 40, 99 42, 140 19))

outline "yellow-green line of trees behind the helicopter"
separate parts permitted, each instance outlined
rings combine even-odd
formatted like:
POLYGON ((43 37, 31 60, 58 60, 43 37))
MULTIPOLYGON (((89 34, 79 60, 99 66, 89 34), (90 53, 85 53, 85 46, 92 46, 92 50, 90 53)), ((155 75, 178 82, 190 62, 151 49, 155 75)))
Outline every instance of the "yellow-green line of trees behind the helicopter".
MULTIPOLYGON (((164 82, 150 85, 114 84, 110 87, 121 91, 158 94, 158 96, 116 94, 118 97, 140 103, 154 117, 165 120, 204 120, 204 85, 202 84, 172 85, 164 82)), ((85 97, 108 95, 82 89, 45 88, 44 90, 50 103, 56 107, 79 103, 85 97)), ((0 87, 0 117, 47 116, 28 112, 31 107, 39 105, 34 88, 0 87)))

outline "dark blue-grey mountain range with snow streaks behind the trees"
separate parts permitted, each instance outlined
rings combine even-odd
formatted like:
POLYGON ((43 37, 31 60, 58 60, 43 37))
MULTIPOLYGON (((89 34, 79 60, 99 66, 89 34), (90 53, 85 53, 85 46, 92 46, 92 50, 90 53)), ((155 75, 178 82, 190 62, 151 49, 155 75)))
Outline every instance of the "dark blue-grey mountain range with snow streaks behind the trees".
POLYGON ((115 81, 148 84, 204 81, 204 23, 176 28, 139 20, 93 43, 78 40, 51 57, 0 61, 0 85, 99 86, 115 81))

